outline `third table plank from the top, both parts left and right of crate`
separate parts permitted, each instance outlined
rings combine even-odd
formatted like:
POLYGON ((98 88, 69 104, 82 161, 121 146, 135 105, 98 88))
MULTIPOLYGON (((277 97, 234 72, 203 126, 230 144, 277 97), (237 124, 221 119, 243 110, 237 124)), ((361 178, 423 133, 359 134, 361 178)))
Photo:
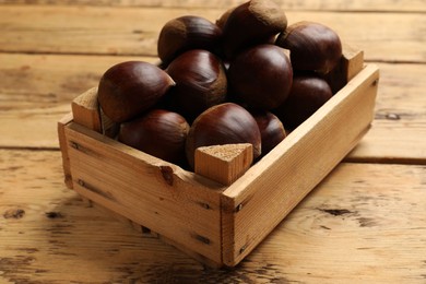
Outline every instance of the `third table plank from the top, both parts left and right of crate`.
MULTIPOLYGON (((56 122, 114 63, 138 57, 0 54, 0 146, 58 147, 56 122), (84 68, 83 68, 84 67, 84 68)), ((156 58, 141 60, 156 62, 156 58)), ((425 64, 378 63, 376 118, 352 161, 426 159, 425 64), (403 134, 399 134, 403 133, 403 134), (399 139, 394 139, 398 135, 399 139)))

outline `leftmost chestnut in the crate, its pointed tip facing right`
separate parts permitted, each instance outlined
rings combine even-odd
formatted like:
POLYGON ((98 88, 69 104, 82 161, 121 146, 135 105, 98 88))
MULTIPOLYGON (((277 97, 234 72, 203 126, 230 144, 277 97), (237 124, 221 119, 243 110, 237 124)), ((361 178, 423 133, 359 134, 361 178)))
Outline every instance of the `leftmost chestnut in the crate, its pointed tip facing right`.
POLYGON ((97 99, 105 115, 120 123, 153 107, 173 85, 173 79, 157 66, 126 61, 100 78, 97 99))

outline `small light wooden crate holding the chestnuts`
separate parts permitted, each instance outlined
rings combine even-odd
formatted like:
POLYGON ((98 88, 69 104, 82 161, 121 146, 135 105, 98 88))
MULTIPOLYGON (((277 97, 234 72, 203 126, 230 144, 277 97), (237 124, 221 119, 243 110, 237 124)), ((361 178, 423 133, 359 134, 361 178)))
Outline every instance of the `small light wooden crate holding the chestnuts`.
POLYGON ((109 138, 90 90, 58 123, 66 184, 208 265, 235 267, 368 131, 378 68, 346 50, 332 78, 344 87, 228 186, 109 138))

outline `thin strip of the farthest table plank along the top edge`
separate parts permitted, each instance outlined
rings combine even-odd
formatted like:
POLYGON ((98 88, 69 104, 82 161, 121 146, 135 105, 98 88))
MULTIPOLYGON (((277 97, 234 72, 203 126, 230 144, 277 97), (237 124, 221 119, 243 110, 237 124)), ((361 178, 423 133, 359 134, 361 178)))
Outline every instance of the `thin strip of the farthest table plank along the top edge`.
MULTIPOLYGON (((162 8, 222 8, 226 9, 245 2, 245 0, 0 0, 0 4, 58 4, 58 5, 117 5, 117 7, 162 7, 162 8)), ((404 11, 425 12, 426 5, 422 0, 275 0, 286 10, 332 10, 332 11, 404 11)))

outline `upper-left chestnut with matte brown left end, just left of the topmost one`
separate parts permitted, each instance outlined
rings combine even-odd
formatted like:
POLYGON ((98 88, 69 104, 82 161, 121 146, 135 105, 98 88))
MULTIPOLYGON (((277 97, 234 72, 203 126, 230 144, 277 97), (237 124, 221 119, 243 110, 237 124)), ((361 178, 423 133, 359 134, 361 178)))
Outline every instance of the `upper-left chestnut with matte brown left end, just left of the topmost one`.
POLYGON ((209 20, 196 15, 179 16, 168 21, 159 32, 158 57, 168 63, 189 49, 217 52, 221 38, 222 29, 209 20))

